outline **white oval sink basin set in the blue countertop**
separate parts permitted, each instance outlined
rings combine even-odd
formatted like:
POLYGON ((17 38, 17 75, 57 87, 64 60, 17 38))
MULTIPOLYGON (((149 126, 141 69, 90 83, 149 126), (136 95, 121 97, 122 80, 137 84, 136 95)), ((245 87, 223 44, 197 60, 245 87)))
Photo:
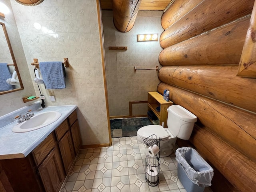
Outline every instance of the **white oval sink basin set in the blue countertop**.
POLYGON ((57 111, 42 112, 40 114, 36 114, 32 118, 22 123, 16 124, 12 128, 12 132, 23 133, 23 132, 40 129, 42 127, 52 124, 53 122, 58 120, 60 116, 61 116, 61 113, 57 111))

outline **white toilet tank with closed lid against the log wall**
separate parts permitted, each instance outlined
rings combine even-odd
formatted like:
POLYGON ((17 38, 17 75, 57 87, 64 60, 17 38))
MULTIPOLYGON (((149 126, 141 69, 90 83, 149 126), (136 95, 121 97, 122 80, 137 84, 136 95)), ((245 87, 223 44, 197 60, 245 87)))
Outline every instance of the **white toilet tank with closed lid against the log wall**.
POLYGON ((167 126, 170 132, 184 140, 188 140, 194 128, 197 117, 180 105, 168 108, 167 126))

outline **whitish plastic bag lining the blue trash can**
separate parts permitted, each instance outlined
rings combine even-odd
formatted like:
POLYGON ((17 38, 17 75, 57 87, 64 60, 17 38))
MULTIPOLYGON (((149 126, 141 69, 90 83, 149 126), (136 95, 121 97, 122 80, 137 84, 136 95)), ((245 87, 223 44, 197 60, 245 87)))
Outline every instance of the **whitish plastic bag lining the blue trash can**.
POLYGON ((212 167, 191 147, 178 148, 175 152, 177 162, 184 168, 188 178, 200 187, 211 186, 214 175, 212 167))

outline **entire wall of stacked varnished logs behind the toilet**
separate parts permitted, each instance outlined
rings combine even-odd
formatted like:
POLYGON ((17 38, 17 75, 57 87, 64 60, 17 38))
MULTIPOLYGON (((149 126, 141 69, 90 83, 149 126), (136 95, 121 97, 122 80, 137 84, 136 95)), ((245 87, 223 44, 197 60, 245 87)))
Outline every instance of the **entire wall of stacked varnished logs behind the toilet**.
POLYGON ((157 89, 198 117, 190 142, 248 192, 256 188, 256 80, 236 75, 253 4, 176 0, 161 20, 157 89))

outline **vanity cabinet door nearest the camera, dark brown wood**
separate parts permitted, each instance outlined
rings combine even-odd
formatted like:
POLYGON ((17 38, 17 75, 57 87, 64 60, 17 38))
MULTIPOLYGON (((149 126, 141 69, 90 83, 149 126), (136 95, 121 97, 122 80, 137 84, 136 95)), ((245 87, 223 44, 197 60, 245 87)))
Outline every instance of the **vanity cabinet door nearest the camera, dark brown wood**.
POLYGON ((54 148, 38 168, 46 192, 58 192, 65 179, 60 152, 54 148))

